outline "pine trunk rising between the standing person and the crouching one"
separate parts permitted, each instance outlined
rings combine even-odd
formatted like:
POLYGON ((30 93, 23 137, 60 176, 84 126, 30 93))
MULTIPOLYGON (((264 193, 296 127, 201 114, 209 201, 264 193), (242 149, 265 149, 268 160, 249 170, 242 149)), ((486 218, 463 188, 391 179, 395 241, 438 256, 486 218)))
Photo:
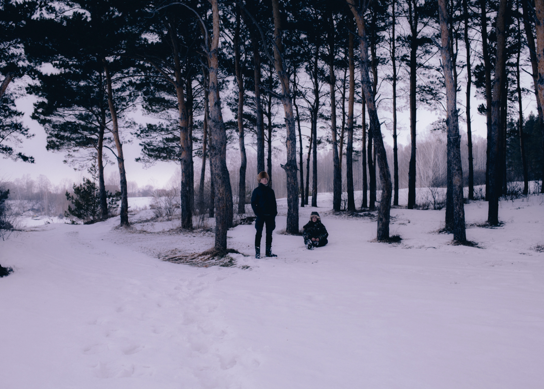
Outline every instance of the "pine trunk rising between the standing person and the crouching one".
POLYGON ((278 0, 272 0, 272 9, 274 14, 274 66, 282 90, 281 102, 283 111, 285 111, 285 126, 287 162, 285 169, 287 175, 287 227, 286 231, 290 234, 299 233, 299 207, 298 207, 298 183, 296 178, 296 135, 295 119, 293 115, 293 101, 289 88, 289 75, 283 67, 283 29, 281 25, 281 15, 278 0))

